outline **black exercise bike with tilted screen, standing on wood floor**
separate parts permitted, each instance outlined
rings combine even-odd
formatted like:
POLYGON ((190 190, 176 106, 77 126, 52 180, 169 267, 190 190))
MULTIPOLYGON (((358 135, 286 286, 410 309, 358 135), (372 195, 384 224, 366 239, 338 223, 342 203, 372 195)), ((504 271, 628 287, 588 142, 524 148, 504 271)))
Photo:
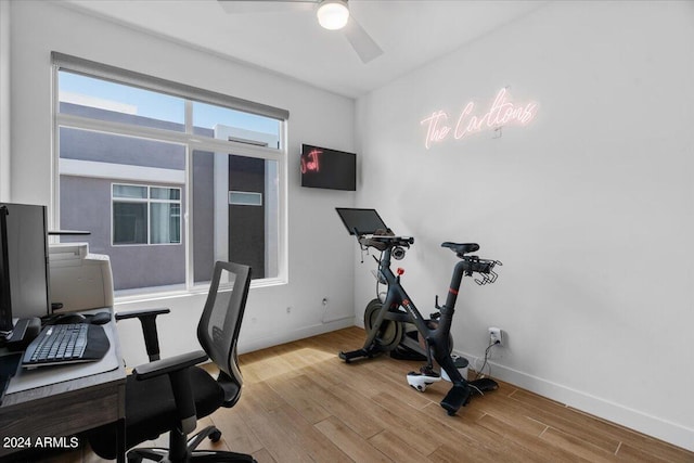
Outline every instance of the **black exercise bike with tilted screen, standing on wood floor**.
MULTIPOLYGON (((373 358, 406 343, 413 350, 423 352, 426 358, 426 364, 422 366, 420 372, 408 373, 408 383, 412 387, 424 391, 427 385, 440 381, 441 376, 448 376, 452 383, 451 389, 440 402, 449 415, 454 415, 461 407, 467 404, 472 394, 497 389, 499 385, 491 378, 468 382, 462 377, 451 357, 453 346, 450 327, 463 276, 477 274, 475 279, 477 284, 493 283, 498 276, 493 269, 501 262, 468 255, 479 249, 479 245, 475 243, 442 243, 441 246, 455 253, 460 261, 453 268, 446 304, 442 307, 439 306, 437 296, 435 301, 437 312, 432 313, 430 318, 425 320, 400 283, 403 271, 397 269, 396 274, 390 269, 391 259, 402 259, 406 249, 414 244, 414 239, 396 236, 385 227, 373 209, 338 208, 337 211, 351 234, 357 236, 362 253, 370 248, 381 252, 380 258, 374 256, 378 263, 375 276, 380 283, 387 285, 384 300, 378 297, 367 306, 364 313, 367 339, 363 347, 347 352, 340 351, 339 358, 346 363, 350 363, 359 359, 373 358), (369 229, 376 227, 376 229, 372 234, 362 233, 358 226, 349 228, 355 223, 369 229), (377 228, 380 226, 383 228, 377 228), (414 325, 419 334, 416 340, 409 336, 411 332, 406 334, 408 325, 414 325), (440 374, 434 369, 434 360, 441 369, 440 374)), ((378 293, 377 290, 376 293, 378 293)))

